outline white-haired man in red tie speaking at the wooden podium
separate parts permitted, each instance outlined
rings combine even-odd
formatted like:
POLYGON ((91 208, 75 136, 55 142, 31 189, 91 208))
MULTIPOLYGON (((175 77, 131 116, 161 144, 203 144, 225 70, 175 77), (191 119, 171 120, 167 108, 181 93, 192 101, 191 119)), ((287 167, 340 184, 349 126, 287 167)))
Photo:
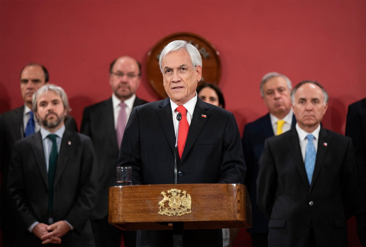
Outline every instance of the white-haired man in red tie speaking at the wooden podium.
MULTIPOLYGON (((159 59, 168 98, 135 107, 117 165, 132 166, 132 184, 173 184, 178 120, 178 183, 243 183, 244 163, 234 115, 197 97, 202 59, 186 41, 170 42, 159 59)), ((221 229, 185 230, 183 246, 223 244, 221 229)), ((140 231, 137 245, 169 246, 173 231, 140 231)))

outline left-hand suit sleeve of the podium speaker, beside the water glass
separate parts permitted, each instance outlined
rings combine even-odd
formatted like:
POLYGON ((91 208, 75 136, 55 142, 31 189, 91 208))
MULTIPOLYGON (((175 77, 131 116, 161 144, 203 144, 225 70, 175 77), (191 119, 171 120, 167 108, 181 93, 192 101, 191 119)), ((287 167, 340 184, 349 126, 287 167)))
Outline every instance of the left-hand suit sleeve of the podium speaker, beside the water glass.
POLYGON ((133 108, 124 130, 116 165, 132 166, 132 184, 134 185, 142 184, 139 129, 138 112, 136 108, 133 108))

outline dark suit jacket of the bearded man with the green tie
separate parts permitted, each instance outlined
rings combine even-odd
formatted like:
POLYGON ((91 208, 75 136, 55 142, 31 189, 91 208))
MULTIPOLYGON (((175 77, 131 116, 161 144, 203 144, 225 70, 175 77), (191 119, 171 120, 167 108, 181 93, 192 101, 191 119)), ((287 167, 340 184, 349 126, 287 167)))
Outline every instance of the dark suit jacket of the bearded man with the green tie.
MULTIPOLYGON (((66 220, 75 229, 61 237, 63 245, 94 244, 89 217, 96 195, 96 165, 90 138, 65 130, 55 172, 53 221, 66 220)), ((33 243, 34 237, 27 237, 32 236, 27 228, 33 222, 48 224, 48 190, 42 137, 37 132, 15 143, 9 167, 8 191, 20 219, 16 244, 33 243)))

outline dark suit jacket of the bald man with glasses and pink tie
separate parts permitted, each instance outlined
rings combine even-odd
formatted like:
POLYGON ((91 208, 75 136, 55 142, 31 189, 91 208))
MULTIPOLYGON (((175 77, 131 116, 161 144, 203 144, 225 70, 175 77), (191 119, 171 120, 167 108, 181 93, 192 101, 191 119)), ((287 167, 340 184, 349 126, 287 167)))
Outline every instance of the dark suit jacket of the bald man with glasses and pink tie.
MULTIPOLYGON (((135 98, 133 107, 147 103, 135 98)), ((116 185, 116 162, 119 144, 113 117, 112 98, 84 109, 80 132, 90 136, 98 160, 99 185, 93 218, 108 214, 108 187, 116 185)))

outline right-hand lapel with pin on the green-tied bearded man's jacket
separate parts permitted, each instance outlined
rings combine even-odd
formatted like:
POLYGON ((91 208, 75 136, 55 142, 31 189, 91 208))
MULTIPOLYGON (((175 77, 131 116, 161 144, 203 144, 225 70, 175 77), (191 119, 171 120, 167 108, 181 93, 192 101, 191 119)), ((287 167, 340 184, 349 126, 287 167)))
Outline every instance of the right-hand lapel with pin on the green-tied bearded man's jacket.
POLYGON ((65 166, 68 163, 68 159, 72 150, 76 147, 76 133, 71 132, 69 130, 65 130, 64 135, 62 136, 61 140, 61 147, 59 157, 57 158, 57 165, 56 165, 56 172, 55 172, 55 183, 60 179, 62 172, 64 171, 65 166))

